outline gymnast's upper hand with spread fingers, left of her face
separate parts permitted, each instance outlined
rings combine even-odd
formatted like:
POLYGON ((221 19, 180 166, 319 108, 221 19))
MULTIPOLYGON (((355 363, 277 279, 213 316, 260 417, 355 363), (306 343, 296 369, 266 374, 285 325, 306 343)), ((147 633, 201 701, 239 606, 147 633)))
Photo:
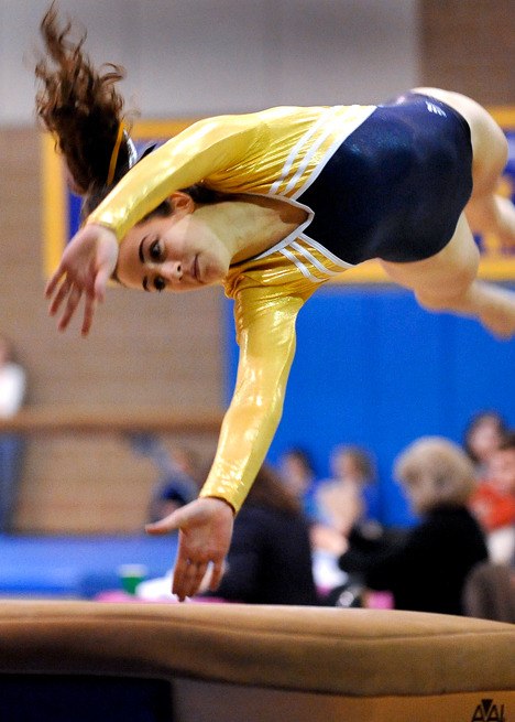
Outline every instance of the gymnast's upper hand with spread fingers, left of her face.
POLYGON ((56 315, 64 304, 58 328, 64 331, 85 294, 81 333, 91 327, 95 308, 103 301, 107 282, 118 260, 118 241, 109 228, 89 224, 81 228, 67 245, 61 263, 46 284, 45 295, 51 299, 50 314, 56 315))

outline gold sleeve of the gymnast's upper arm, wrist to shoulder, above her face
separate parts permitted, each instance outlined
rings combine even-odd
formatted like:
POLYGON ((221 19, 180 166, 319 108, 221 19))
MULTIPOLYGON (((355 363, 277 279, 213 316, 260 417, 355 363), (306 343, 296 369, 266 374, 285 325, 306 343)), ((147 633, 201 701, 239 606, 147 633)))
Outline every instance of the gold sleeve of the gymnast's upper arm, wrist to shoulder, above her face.
POLYGON ((119 241, 174 191, 231 168, 252 147, 259 114, 199 120, 136 163, 88 216, 119 241))

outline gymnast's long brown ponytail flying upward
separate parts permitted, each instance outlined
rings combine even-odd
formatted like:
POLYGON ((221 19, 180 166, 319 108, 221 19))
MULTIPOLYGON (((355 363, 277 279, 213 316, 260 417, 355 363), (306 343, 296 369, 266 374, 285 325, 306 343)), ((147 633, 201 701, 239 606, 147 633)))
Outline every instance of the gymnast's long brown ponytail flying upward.
MULTIPOLYGON (((107 185, 109 166, 120 122, 123 98, 116 85, 125 75, 120 65, 96 69, 83 46, 84 31, 73 40, 72 23, 61 23, 55 3, 41 22, 44 55, 35 66, 40 82, 36 114, 63 153, 81 195, 95 194, 107 185)), ((129 138, 121 138, 112 183, 129 170, 129 138)))

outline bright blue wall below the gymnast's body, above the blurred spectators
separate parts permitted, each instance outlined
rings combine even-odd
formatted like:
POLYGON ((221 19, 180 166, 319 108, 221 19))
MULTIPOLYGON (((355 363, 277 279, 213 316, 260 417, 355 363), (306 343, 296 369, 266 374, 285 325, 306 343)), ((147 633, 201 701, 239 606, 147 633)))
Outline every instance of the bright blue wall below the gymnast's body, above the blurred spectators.
MULTIPOLYGON (((238 363, 230 302, 227 319, 229 400, 238 363)), ((407 525, 413 517, 392 481, 397 453, 424 434, 461 442, 470 417, 491 408, 515 427, 515 341, 496 341, 471 320, 427 313, 397 287, 333 284, 299 315, 269 460, 299 445, 326 476, 335 445, 363 444, 377 460, 384 522, 407 525)))

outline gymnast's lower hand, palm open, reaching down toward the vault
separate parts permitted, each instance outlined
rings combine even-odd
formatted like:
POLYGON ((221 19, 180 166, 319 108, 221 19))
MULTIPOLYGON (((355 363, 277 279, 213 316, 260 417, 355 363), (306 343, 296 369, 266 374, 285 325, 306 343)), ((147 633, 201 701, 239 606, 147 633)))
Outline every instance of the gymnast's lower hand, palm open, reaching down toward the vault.
POLYGON ((215 591, 223 574, 223 561, 232 537, 234 513, 226 502, 198 498, 161 521, 149 524, 149 534, 179 532, 172 592, 180 602, 198 592, 212 562, 209 589, 215 591))

